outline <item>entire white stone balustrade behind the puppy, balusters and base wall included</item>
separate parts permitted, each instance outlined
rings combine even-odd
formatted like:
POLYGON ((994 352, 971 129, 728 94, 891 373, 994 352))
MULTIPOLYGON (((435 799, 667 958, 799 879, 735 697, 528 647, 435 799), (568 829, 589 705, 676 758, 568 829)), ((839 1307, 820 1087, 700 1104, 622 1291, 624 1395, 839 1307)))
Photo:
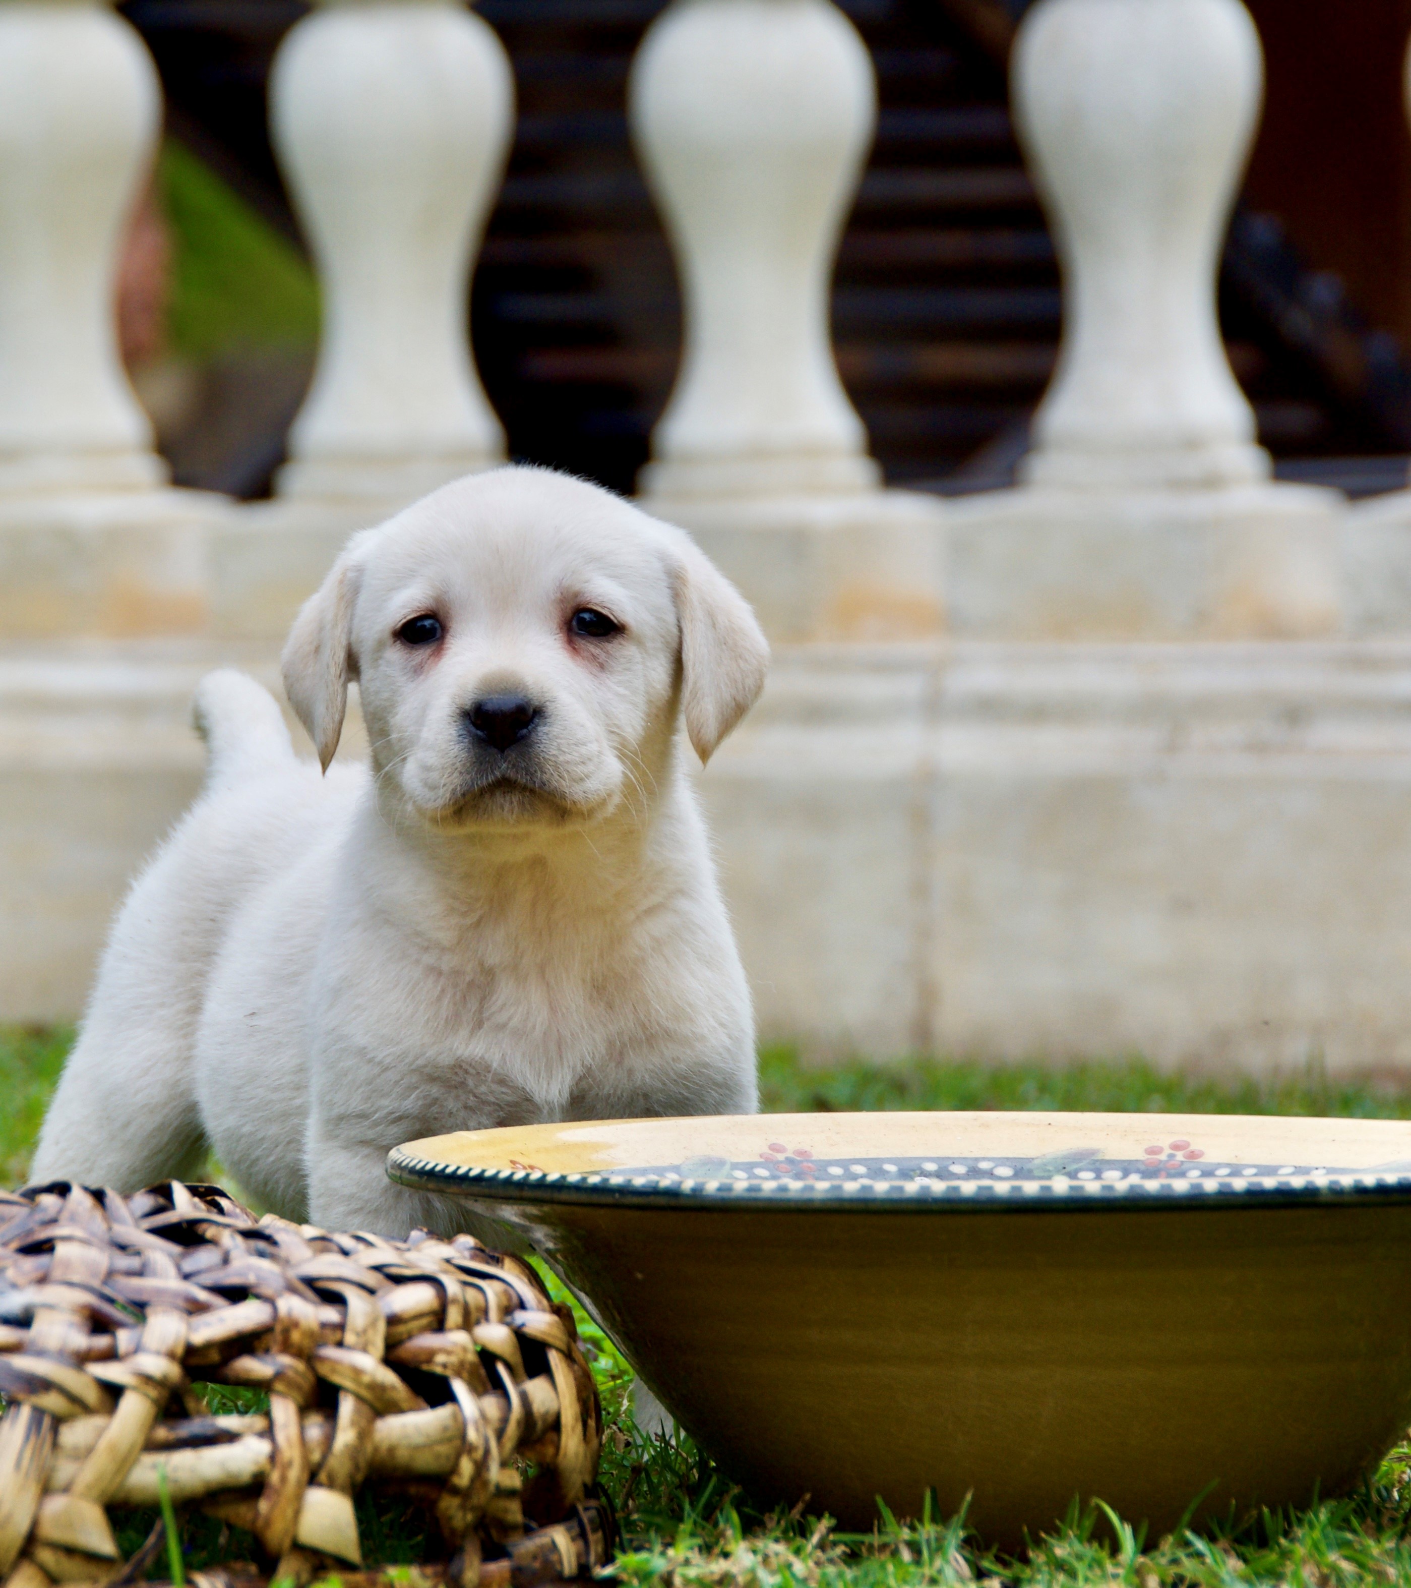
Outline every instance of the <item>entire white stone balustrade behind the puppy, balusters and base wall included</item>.
MULTIPOLYGON (((686 311, 641 499, 778 648, 702 778, 763 1031, 1411 1064, 1411 491, 1349 513, 1271 483, 1225 360, 1254 27, 1038 0, 1013 70, 1063 349, 1021 483, 946 503, 884 488, 833 362, 876 113, 852 25, 673 0, 632 71, 686 311)), ((98 0, 0 0, 0 1018, 76 1013, 197 786, 200 670, 273 683, 349 530, 503 456, 465 300, 513 118, 451 0, 290 32, 271 130, 324 335, 276 497, 236 507, 165 484, 113 343, 159 122, 140 41, 98 0)))

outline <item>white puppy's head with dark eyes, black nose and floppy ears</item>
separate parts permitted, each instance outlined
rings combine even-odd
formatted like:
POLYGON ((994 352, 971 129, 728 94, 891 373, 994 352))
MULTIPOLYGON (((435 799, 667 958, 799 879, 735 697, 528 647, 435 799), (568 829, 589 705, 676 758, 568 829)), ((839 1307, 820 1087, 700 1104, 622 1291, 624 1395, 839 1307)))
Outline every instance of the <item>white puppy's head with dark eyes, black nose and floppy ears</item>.
POLYGON ((648 788, 678 715, 705 761, 767 664, 686 534, 497 468, 349 542, 294 622, 284 686, 327 767, 357 678, 379 788, 427 821, 557 826, 648 788))

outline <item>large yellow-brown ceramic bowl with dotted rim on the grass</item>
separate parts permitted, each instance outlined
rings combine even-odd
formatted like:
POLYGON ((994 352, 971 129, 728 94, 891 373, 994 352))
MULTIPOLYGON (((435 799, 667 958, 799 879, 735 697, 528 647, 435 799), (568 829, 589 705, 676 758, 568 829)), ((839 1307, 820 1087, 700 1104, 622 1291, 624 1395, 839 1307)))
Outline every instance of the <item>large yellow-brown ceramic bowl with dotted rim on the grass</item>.
POLYGON ((516 1224, 727 1472, 844 1526, 935 1490, 998 1544, 1075 1496, 1155 1537, 1411 1426, 1411 1124, 594 1121, 389 1174, 516 1224))

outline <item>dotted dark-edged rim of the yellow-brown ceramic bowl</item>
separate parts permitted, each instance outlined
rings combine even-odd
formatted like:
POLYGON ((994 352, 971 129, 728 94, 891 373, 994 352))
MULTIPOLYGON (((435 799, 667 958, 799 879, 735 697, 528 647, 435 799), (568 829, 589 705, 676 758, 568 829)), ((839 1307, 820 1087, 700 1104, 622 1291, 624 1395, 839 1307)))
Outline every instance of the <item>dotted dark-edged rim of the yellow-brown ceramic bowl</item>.
MULTIPOLYGON (((916 1118, 922 1110, 905 1110, 916 1118)), ((965 1116, 963 1110, 928 1110, 936 1116, 957 1120, 965 1116)), ((994 1120, 997 1112, 987 1113, 994 1120)), ((1014 1110, 1016 1115, 1027 1116, 1028 1121, 1052 1120, 1062 1115, 1060 1110, 1014 1110)), ((859 1113, 859 1118, 876 1120, 876 1113, 859 1113)), ((786 1115, 752 1115, 752 1116, 714 1116, 717 1121, 735 1118, 768 1120, 798 1118, 786 1115)), ((846 1115, 825 1115, 832 1121, 841 1121, 846 1115)), ((1094 1121, 1106 1118, 1113 1121, 1132 1123, 1132 1115, 1082 1115, 1094 1121)), ((1157 1120, 1190 1120, 1195 1116, 1138 1116, 1155 1124, 1157 1120)), ((1213 1115, 1228 1123, 1236 1120, 1259 1120, 1267 1127, 1278 1115, 1213 1115)), ((1301 1115, 1303 1126, 1316 1124, 1317 1120, 1301 1115)), ((616 1121, 557 1121, 559 1127, 571 1129, 581 1126, 662 1126, 667 1120, 616 1120, 616 1121)), ((1357 1126, 1362 1123, 1403 1123, 1411 1129, 1411 1121, 1354 1121, 1328 1120, 1327 1124, 1357 1126)), ((556 1121, 544 1121, 554 1126, 556 1121)), ((525 1129, 541 1126, 511 1126, 502 1131, 451 1132, 456 1135, 511 1137, 522 1135, 525 1129)), ((1155 1135, 1157 1131, 1149 1134, 1155 1135)), ((890 1159, 882 1164, 892 1175, 876 1177, 870 1172, 848 1174, 833 1164, 848 1164, 848 1158, 819 1159, 827 1164, 829 1174, 835 1178, 813 1178, 813 1164, 800 1167, 798 1159, 771 1161, 763 1169, 751 1159, 740 1159, 740 1166, 749 1164, 749 1174, 724 1158, 700 1159, 703 1164, 724 1166, 714 1174, 697 1170, 681 1174, 689 1169, 694 1159, 681 1164, 660 1167, 602 1167, 589 1170, 552 1170, 538 1169, 527 1164, 519 1167, 492 1167, 475 1162, 448 1162, 435 1156, 427 1156, 424 1148, 435 1145, 443 1137, 427 1137, 417 1142, 406 1142, 392 1148, 387 1154, 387 1175, 398 1185, 467 1197, 478 1202, 500 1204, 570 1204, 592 1207, 656 1207, 681 1212, 760 1212, 770 1210, 817 1210, 830 1213, 876 1213, 876 1212, 911 1212, 911 1213, 995 1213, 995 1212, 1178 1212, 1182 1208, 1238 1208, 1238 1207, 1308 1207, 1324 1205, 1367 1205, 1367 1204, 1401 1204, 1411 1201, 1411 1159, 1401 1162, 1373 1164, 1362 1169, 1324 1169, 1309 1166, 1282 1166, 1282 1170, 1270 1169, 1267 1174, 1243 1172, 1241 1167, 1224 1164, 1216 1169, 1217 1159, 1197 1169, 1190 1178, 1175 1172, 1146 1174, 1133 1172, 1136 1159, 1105 1159, 1100 1150, 1090 1158, 1092 1164, 1103 1162, 1109 1170, 1102 1177, 1097 1172, 1082 1172, 1087 1159, 1073 1153, 1044 1153, 1025 1156, 1024 1153, 1008 1153, 989 1148, 994 1154, 986 1159, 973 1159, 978 1169, 994 1169, 995 1159, 1009 1158, 1011 1166, 1000 1166, 998 1172, 975 1174, 960 1170, 963 1178, 932 1174, 940 1164, 932 1159, 922 1161, 909 1154, 898 1154, 895 1150, 887 1154, 890 1159), (919 1167, 902 1169, 902 1164, 917 1164, 919 1167), (1127 1170, 1117 1170, 1119 1164, 1127 1164, 1127 1170), (795 1167, 789 1167, 795 1166, 795 1167), (1024 1167, 1027 1166, 1027 1167, 1024 1167), (1071 1170, 1071 1172, 1070 1172, 1071 1170), (1081 1178, 1079 1178, 1081 1175, 1081 1178), (1008 1178, 1003 1178, 1008 1177, 1008 1178)), ((1175 1142, 1171 1145, 1190 1145, 1175 1142)), ((981 1148, 984 1150, 984 1148, 981 1148)), ((1151 1151, 1151 1150, 1148 1150, 1151 1151)), ((944 1151, 933 1150, 936 1158, 944 1158, 944 1151)), ((487 1153, 492 1156, 492 1153, 487 1153)), ((803 1154, 811 1158, 811 1154, 803 1154)), ((854 1156, 854 1154, 849 1154, 854 1156)), ((868 1153, 857 1151, 857 1158, 868 1153)), ((957 1154, 957 1159, 963 1153, 957 1154)), ((1190 1158, 1203 1158, 1203 1153, 1189 1153, 1190 1158)), ((1270 1162, 1270 1158, 1263 1158, 1270 1162)), ((967 1164, 971 1162, 967 1159, 967 1164)), ((852 1162, 854 1170, 865 1169, 865 1164, 852 1162)), ((1159 1169, 1162 1166, 1140 1166, 1159 1169)), ((1190 1166, 1178 1162, 1179 1170, 1190 1166)))

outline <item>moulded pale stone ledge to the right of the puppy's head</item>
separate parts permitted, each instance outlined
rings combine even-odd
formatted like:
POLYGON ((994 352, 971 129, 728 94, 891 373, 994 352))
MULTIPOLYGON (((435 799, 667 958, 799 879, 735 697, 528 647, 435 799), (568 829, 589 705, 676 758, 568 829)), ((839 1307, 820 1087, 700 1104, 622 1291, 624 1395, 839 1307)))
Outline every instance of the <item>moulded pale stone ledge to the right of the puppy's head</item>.
POLYGON ((1211 757, 1403 778, 1411 642, 776 646, 763 697, 719 754, 771 757, 775 735, 814 730, 838 735, 830 751, 865 743, 865 761, 900 735, 890 759, 924 750, 941 772, 1211 757))

